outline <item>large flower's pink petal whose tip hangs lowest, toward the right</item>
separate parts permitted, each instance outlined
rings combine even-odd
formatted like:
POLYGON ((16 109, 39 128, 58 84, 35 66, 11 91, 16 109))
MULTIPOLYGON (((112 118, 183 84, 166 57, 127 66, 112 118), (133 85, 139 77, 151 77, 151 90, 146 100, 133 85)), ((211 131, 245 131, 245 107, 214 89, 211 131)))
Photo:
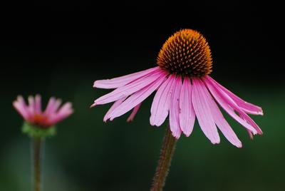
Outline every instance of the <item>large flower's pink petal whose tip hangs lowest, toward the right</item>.
POLYGON ((214 123, 216 123, 219 130, 222 131, 224 137, 227 138, 227 140, 229 140, 229 143, 232 143, 232 145, 235 145, 237 148, 242 148, 242 142, 239 140, 239 138, 237 138, 237 135, 234 133, 234 130, 232 130, 232 128, 229 126, 227 120, 224 119, 222 112, 219 110, 210 93, 208 91, 205 91, 204 95, 206 96, 207 102, 209 103, 209 108, 211 110, 214 123))

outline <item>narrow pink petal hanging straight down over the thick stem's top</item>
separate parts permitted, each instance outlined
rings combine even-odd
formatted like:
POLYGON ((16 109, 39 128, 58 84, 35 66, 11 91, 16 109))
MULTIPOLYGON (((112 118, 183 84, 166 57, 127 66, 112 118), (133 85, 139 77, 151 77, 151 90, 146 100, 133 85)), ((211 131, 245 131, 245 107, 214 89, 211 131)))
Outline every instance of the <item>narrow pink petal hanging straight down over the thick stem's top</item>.
POLYGON ((172 83, 173 93, 170 99, 170 130, 172 132, 173 137, 180 138, 181 128, 180 128, 180 120, 179 120, 179 100, 180 100, 180 92, 182 88, 182 79, 181 77, 177 77, 175 79, 175 83, 172 83))

